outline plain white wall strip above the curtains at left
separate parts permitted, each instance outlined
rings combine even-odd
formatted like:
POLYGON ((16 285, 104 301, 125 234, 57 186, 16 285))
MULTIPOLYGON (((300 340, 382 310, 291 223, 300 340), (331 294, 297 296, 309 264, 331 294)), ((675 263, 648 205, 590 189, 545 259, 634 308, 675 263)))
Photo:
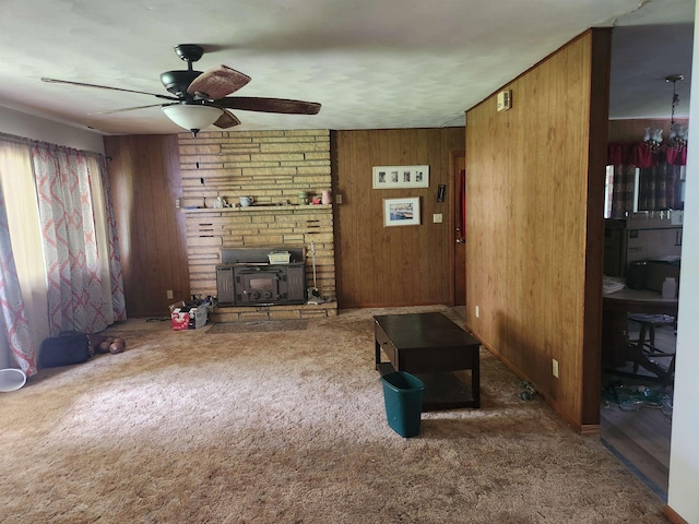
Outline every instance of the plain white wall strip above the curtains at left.
POLYGON ((0 106, 0 133, 64 145, 75 150, 105 152, 102 134, 66 126, 0 106))

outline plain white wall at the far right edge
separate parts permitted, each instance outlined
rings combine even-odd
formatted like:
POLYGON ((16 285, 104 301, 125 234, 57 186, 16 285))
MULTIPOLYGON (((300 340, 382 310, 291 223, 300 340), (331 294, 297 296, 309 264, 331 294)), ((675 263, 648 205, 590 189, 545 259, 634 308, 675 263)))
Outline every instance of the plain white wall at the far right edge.
MULTIPOLYGON (((697 2, 699 3, 699 2, 697 2)), ((695 8, 692 71, 699 72, 699 16, 695 8)), ((689 127, 699 129, 699 78, 692 74, 689 127)), ((692 135, 696 133, 692 133, 692 135)), ((699 135, 687 148, 687 182, 677 317, 675 404, 667 504, 689 523, 699 523, 699 135), (694 145, 694 147, 692 147, 694 145)))

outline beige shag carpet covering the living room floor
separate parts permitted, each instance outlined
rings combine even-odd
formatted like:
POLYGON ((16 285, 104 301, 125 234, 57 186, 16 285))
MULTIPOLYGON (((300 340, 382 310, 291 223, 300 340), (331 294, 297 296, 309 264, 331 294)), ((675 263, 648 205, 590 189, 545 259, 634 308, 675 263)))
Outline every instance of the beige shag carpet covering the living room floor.
MULTIPOLYGON (((0 393, 2 523, 662 523, 662 502, 482 350, 481 409, 386 422, 372 314, 127 352, 0 393)), ((454 317, 455 318, 455 317, 454 317)), ((202 336, 205 335, 205 336, 202 336)))

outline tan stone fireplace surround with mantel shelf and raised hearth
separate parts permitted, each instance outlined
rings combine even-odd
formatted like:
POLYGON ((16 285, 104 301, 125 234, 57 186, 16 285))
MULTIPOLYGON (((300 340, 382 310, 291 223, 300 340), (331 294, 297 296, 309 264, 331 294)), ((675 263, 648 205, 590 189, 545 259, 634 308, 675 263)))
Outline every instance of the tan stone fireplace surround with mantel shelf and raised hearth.
POLYGON ((190 287, 193 295, 216 295, 222 248, 306 248, 307 286, 312 286, 310 246, 316 250, 317 287, 333 301, 288 306, 221 307, 213 322, 288 320, 335 315, 335 260, 332 204, 299 201, 331 189, 330 132, 216 131, 179 135, 182 196, 187 225, 190 287), (223 196, 232 207, 217 209, 223 196), (254 205, 239 206, 239 196, 254 205))

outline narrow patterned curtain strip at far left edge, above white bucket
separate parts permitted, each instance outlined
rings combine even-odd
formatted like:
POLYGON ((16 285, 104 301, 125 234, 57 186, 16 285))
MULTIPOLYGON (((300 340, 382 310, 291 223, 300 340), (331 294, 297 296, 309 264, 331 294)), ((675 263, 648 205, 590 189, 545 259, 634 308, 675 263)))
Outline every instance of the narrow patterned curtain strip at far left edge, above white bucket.
POLYGON ((10 228, 5 213, 4 196, 0 184, 0 332, 4 335, 11 355, 24 371, 36 374, 34 345, 29 336, 29 324, 24 311, 22 291, 17 281, 10 228))

